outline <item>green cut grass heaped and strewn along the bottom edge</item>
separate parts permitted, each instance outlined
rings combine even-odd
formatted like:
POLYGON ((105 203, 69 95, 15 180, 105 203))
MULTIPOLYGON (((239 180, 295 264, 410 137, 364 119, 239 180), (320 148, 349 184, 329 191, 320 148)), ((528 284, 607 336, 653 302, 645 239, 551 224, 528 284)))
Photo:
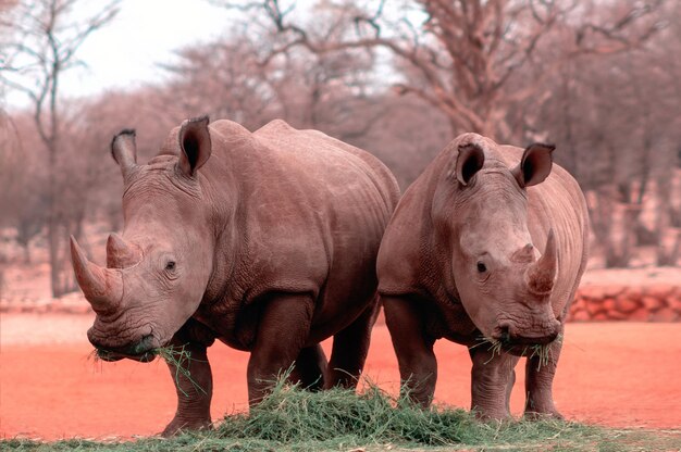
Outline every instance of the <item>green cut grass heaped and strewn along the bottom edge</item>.
POLYGON ((67 440, 0 442, 1 450, 383 451, 383 450, 677 450, 681 430, 614 430, 559 420, 481 423, 462 410, 422 410, 375 385, 360 394, 310 392, 280 379, 249 414, 226 416, 213 430, 172 439, 102 443, 67 440))

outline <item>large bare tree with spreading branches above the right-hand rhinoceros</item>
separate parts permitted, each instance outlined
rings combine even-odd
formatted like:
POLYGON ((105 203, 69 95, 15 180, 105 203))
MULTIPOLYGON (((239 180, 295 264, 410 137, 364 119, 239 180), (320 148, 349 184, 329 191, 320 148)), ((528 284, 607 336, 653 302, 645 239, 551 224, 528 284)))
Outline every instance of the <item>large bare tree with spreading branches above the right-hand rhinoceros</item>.
POLYGON ((640 45, 659 28, 649 16, 663 2, 628 1, 617 15, 594 22, 575 18, 593 7, 578 0, 413 0, 389 2, 389 7, 383 0, 370 2, 373 8, 320 2, 318 9, 332 11, 326 28, 343 30, 334 39, 322 39, 309 24, 326 16, 315 10, 314 21, 306 22, 305 14, 295 16, 295 1, 286 5, 278 0, 212 1, 249 12, 251 21, 267 20, 278 35, 271 54, 300 46, 314 53, 383 49, 403 73, 393 84, 395 89, 442 111, 451 135, 472 130, 500 138, 511 135, 506 125, 509 106, 536 95, 538 79, 555 74, 560 61, 577 53, 614 53, 640 45), (570 30, 572 48, 555 52, 541 72, 522 72, 556 29, 570 30), (517 76, 525 77, 522 89, 508 89, 517 76))

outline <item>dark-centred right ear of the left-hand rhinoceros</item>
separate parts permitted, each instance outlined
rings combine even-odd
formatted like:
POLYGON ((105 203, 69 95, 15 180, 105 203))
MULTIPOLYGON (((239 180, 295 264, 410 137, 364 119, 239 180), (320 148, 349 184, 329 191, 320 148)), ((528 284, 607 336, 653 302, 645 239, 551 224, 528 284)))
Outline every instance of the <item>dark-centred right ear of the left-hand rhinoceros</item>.
POLYGON ((186 120, 179 127, 179 161, 177 166, 187 176, 194 176, 203 166, 211 153, 208 116, 186 120))

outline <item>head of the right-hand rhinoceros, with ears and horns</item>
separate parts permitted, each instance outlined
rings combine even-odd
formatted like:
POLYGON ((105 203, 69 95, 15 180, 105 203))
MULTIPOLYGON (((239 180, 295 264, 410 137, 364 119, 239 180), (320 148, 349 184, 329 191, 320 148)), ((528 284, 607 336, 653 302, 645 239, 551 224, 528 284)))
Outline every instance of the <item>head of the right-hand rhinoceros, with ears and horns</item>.
POLYGON ((441 222, 449 231, 460 301, 487 338, 510 349, 548 343, 560 330, 550 304, 556 238, 550 229, 545 241, 533 243, 529 222, 538 219, 529 217, 527 187, 549 175, 554 147, 532 145, 509 167, 500 158, 505 150, 492 140, 467 134, 455 145, 458 155, 446 176, 445 197, 454 205, 441 222))

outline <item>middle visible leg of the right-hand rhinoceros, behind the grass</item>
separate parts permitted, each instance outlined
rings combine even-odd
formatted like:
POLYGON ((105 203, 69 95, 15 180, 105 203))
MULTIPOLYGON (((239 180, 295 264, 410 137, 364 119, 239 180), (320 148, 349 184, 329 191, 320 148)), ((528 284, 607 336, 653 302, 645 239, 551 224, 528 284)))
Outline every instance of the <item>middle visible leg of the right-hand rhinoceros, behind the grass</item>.
POLYGON ((469 349, 471 372, 471 410, 485 419, 510 416, 510 393, 516 382, 519 357, 486 347, 469 349))

